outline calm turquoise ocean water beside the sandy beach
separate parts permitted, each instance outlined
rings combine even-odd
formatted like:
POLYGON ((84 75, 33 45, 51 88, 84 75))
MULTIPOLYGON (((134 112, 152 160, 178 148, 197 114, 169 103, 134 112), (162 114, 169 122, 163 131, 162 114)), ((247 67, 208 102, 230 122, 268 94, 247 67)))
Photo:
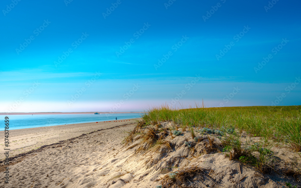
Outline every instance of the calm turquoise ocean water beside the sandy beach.
MULTIPOLYGON (((5 129, 4 121, 6 116, 0 116, 0 131, 5 129)), ((58 115, 11 115, 9 118, 9 130, 45 127, 54 125, 65 125, 74 123, 88 123, 88 122, 101 122, 111 121, 118 119, 133 119, 140 118, 138 113, 125 113, 125 114, 58 114, 58 115)))

